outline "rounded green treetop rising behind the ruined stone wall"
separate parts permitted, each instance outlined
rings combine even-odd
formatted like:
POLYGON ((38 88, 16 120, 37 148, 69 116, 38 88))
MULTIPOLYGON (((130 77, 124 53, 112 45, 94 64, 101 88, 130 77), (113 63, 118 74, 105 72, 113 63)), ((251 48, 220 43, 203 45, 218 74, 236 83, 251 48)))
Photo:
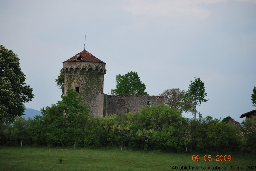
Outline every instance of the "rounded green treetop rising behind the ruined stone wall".
POLYGON ((116 75, 116 89, 111 89, 115 95, 148 95, 146 86, 140 81, 137 72, 128 72, 125 75, 116 75))

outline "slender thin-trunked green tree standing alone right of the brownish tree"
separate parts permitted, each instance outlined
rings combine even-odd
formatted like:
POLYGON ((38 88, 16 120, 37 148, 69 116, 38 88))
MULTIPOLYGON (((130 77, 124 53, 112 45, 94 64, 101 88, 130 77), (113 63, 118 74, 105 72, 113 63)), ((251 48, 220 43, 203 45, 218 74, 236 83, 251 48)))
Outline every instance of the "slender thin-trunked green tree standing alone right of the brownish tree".
POLYGON ((195 80, 189 85, 189 89, 186 92, 186 99, 188 102, 193 103, 193 109, 194 112, 194 119, 196 120, 196 105, 201 105, 201 102, 207 102, 204 97, 208 96, 207 93, 205 93, 204 89, 204 82, 201 81, 200 78, 196 78, 195 80))

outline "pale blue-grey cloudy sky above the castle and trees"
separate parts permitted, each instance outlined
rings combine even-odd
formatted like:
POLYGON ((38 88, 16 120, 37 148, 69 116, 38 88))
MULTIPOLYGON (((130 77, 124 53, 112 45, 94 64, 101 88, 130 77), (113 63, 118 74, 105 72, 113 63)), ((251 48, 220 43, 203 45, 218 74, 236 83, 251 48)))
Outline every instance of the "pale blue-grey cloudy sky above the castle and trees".
POLYGON ((55 79, 85 35, 85 50, 106 63, 105 94, 130 71, 150 95, 187 91, 200 77, 203 117, 242 122, 256 109, 256 0, 0 0, 0 44, 18 55, 35 95, 26 108, 61 100, 55 79))

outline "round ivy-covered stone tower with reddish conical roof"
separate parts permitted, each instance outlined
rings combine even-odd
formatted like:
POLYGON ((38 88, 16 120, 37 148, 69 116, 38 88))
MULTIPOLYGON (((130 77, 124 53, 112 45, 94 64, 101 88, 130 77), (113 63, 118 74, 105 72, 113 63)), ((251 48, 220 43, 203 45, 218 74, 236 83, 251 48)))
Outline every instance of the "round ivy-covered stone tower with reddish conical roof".
POLYGON ((87 104, 90 114, 103 117, 103 82, 106 63, 83 50, 63 62, 64 96, 67 89, 76 89, 87 104))

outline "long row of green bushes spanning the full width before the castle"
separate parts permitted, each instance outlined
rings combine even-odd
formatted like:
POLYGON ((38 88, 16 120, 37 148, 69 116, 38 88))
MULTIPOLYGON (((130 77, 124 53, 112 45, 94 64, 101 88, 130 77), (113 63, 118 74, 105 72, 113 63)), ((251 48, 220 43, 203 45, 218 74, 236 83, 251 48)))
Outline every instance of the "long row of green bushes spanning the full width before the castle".
POLYGON ((50 147, 126 146, 136 150, 167 152, 228 152, 246 147, 256 153, 256 118, 244 121, 244 129, 214 119, 188 119, 167 105, 145 107, 138 113, 104 118, 89 116, 76 91, 68 90, 62 101, 43 107, 42 115, 13 124, 2 121, 0 143, 50 147))

